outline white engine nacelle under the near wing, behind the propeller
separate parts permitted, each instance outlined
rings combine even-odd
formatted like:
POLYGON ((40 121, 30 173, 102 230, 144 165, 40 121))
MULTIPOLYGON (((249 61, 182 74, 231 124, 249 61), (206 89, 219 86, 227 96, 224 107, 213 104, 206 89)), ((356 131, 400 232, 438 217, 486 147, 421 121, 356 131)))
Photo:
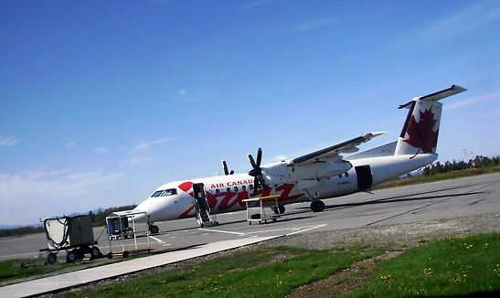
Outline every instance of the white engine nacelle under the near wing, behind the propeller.
POLYGON ((346 173, 352 167, 353 165, 346 161, 318 162, 307 165, 294 165, 283 161, 265 165, 261 169, 266 183, 273 185, 337 176, 346 173))

